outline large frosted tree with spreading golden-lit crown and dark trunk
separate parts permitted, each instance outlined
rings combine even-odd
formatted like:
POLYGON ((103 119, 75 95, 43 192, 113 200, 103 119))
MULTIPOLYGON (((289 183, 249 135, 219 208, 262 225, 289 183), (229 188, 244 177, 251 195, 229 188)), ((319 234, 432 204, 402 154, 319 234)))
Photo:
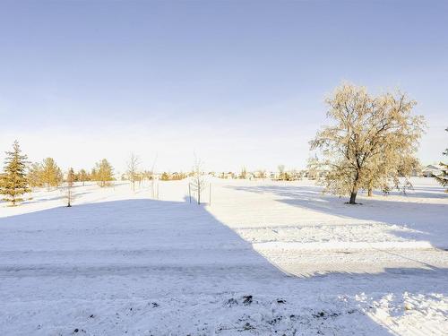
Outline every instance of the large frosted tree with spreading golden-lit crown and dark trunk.
POLYGON ((325 126, 310 142, 323 154, 326 190, 349 194, 355 204, 359 189, 397 186, 398 177, 414 165, 425 126, 423 116, 411 115, 416 102, 400 92, 373 97, 365 87, 350 84, 326 102, 335 125, 325 126))

